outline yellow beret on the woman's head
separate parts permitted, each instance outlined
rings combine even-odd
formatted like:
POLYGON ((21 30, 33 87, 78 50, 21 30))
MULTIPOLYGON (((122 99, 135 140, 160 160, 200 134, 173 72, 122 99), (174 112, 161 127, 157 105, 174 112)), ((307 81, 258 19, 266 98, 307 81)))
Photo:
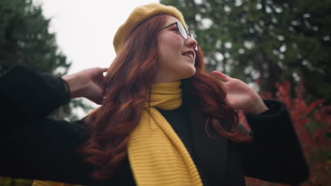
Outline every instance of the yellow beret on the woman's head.
POLYGON ((132 11, 125 23, 117 29, 112 42, 112 44, 114 44, 115 52, 117 53, 117 51, 120 50, 131 32, 140 23, 159 14, 168 14, 169 16, 178 18, 178 20, 180 20, 180 22, 186 27, 182 13, 180 13, 180 11, 178 11, 178 9, 174 6, 165 6, 163 4, 147 4, 144 6, 138 6, 137 8, 134 8, 134 11, 132 11))

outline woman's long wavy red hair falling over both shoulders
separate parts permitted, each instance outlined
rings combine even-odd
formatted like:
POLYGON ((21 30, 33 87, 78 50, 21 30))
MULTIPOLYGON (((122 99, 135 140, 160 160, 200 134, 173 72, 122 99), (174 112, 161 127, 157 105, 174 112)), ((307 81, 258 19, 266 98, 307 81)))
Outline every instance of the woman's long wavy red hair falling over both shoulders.
MULTIPOLYGON (((129 133, 139 124, 143 103, 149 99, 148 92, 156 77, 157 36, 167 18, 167 15, 158 15, 141 23, 108 69, 104 82, 108 89, 102 106, 86 120, 91 138, 79 148, 83 159, 95 166, 92 177, 97 180, 110 178, 127 156, 129 133)), ((237 130, 238 115, 226 103, 222 82, 204 71, 201 50, 197 51, 194 66, 195 75, 182 80, 183 101, 193 103, 190 104, 192 108, 207 113, 206 125, 211 124, 219 135, 235 141, 250 140, 248 132, 237 130), (227 129, 220 123, 224 119, 228 122, 227 129)))

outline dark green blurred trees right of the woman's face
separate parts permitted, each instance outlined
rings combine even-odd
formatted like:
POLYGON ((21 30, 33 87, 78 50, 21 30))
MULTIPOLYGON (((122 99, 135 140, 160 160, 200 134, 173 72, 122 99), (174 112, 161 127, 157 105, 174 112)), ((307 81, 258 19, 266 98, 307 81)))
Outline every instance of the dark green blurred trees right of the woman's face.
MULTIPOLYGON (((182 11, 197 34, 208 70, 262 91, 303 79, 308 101, 331 102, 331 0, 161 0, 182 11)), ((295 86, 292 86, 295 89, 295 86)), ((292 95, 294 94, 292 90, 292 95)))

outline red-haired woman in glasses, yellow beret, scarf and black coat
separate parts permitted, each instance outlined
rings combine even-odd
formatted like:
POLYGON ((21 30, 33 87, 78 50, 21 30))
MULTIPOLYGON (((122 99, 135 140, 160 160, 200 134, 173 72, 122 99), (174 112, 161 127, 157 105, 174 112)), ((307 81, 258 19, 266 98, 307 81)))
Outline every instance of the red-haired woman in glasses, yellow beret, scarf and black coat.
POLYGON ((8 149, 0 155, 1 175, 80 185, 245 185, 244 175, 287 184, 306 179, 284 104, 262 101, 240 80, 205 72, 202 51, 177 9, 137 7, 114 46, 117 57, 105 78, 106 69, 91 68, 62 82, 21 66, 1 77, 6 123, 0 142, 8 149), (101 106, 74 123, 45 119, 68 94, 101 106), (238 126, 239 109, 252 134, 238 126))

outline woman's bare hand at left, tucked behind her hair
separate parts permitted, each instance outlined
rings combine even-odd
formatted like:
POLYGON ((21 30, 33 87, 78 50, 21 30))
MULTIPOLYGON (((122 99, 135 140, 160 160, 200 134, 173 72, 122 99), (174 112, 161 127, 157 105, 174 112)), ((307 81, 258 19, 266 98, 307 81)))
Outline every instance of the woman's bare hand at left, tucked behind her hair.
POLYGON ((79 73, 64 75, 70 89, 71 99, 76 97, 86 97, 96 104, 103 101, 103 73, 107 68, 88 68, 81 70, 79 73))

